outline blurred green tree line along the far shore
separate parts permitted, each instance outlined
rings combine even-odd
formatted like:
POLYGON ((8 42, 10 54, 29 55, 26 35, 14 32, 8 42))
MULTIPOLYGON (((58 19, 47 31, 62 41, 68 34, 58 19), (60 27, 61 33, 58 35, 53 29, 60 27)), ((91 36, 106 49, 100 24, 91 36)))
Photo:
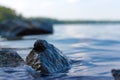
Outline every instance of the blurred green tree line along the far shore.
POLYGON ((21 18, 26 20, 37 19, 40 21, 48 21, 53 24, 96 24, 96 23, 117 24, 117 23, 120 23, 120 20, 58 20, 58 19, 44 18, 44 17, 24 18, 22 15, 18 15, 15 10, 8 7, 0 6, 0 22, 7 19, 21 19, 21 18))

